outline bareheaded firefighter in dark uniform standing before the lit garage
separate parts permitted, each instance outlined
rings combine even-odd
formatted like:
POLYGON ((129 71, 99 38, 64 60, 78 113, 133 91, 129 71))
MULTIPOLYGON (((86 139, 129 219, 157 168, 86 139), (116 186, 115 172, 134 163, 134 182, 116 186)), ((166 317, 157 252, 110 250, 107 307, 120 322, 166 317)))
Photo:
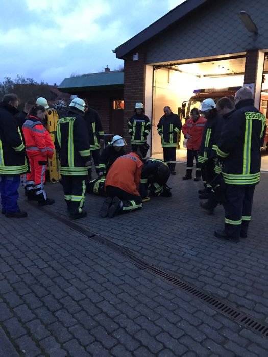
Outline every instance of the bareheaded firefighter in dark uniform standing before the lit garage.
POLYGON ((176 175, 176 148, 178 145, 178 134, 181 131, 181 120, 168 106, 164 107, 164 113, 159 120, 157 130, 161 136, 164 162, 167 163, 171 174, 176 175))

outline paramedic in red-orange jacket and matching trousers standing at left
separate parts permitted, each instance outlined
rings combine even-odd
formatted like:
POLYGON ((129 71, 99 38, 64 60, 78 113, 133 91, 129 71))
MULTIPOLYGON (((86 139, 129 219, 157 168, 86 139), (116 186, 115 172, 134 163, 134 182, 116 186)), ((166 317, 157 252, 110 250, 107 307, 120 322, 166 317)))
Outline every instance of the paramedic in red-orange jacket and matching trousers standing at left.
POLYGON ((55 203, 54 199, 47 198, 44 190, 47 157, 52 158, 55 149, 50 134, 42 123, 45 115, 46 109, 35 105, 22 126, 31 170, 26 177, 27 196, 28 200, 37 200, 40 206, 55 203))

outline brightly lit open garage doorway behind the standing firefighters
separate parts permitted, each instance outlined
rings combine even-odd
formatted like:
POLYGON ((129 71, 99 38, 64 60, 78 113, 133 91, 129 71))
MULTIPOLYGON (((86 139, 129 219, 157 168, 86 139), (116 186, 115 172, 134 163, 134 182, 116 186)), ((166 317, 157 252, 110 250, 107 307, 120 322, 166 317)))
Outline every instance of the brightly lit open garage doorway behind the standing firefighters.
MULTIPOLYGON (((180 115, 182 124, 192 108, 199 108, 201 101, 208 97, 217 98, 234 94, 236 87, 244 81, 245 57, 213 60, 190 64, 155 66, 153 79, 153 129, 152 157, 163 158, 161 139, 157 124, 164 114, 164 106, 169 106, 180 115), (185 110, 181 108, 185 106, 185 110)), ((177 161, 186 161, 183 135, 178 140, 177 161)))

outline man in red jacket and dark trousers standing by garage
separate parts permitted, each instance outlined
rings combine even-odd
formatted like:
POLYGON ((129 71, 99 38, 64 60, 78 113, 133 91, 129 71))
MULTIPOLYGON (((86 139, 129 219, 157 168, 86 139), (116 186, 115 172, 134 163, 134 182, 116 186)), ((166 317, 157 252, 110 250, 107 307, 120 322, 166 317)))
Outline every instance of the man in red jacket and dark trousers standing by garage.
POLYGON ((196 160, 196 177, 194 181, 201 180, 201 167, 197 159, 206 121, 203 116, 199 115, 198 108, 193 108, 191 110, 191 118, 182 125, 183 135, 187 139, 187 167, 186 175, 182 177, 183 180, 192 178, 193 159, 196 160))

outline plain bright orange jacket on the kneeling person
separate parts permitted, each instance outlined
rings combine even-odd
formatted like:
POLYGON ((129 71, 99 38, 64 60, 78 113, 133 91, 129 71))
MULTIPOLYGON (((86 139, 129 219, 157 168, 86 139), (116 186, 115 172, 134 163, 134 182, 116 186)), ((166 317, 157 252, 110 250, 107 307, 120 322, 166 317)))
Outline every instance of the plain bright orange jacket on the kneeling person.
POLYGON ((131 195, 139 196, 139 182, 143 163, 135 152, 120 156, 110 167, 106 186, 115 186, 131 195))

